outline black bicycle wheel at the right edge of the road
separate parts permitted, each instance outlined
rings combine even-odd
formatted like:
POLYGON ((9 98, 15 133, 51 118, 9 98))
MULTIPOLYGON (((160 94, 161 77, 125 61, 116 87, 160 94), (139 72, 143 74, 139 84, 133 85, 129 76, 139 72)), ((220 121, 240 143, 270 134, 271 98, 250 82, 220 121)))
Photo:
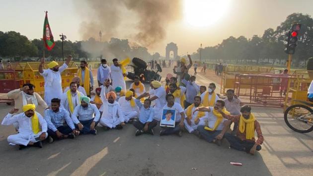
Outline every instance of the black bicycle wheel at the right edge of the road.
POLYGON ((299 133, 308 133, 313 130, 313 109, 303 104, 289 106, 284 114, 286 124, 299 133))

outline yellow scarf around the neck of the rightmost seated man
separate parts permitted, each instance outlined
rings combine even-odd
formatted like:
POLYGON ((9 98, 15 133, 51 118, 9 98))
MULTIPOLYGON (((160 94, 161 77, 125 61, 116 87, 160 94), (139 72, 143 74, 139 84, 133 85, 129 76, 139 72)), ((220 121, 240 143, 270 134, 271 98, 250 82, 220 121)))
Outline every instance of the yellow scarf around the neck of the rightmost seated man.
POLYGON ((245 119, 242 115, 239 119, 239 131, 243 133, 245 130, 245 138, 252 139, 254 137, 254 121, 255 117, 252 113, 250 113, 249 119, 245 119))

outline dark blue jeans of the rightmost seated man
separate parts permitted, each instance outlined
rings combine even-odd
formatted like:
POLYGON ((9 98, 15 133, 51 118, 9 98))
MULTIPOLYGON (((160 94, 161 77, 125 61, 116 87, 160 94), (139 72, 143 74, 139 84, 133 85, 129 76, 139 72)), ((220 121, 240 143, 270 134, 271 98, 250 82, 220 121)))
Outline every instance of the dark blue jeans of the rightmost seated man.
MULTIPOLYGON (((245 151, 249 152, 255 142, 250 142, 250 141, 241 141, 237 136, 234 136, 230 133, 226 133, 224 137, 227 139, 227 141, 231 144, 231 147, 239 150, 239 151, 245 151)), ((259 151, 261 150, 261 146, 257 145, 256 150, 259 151)))

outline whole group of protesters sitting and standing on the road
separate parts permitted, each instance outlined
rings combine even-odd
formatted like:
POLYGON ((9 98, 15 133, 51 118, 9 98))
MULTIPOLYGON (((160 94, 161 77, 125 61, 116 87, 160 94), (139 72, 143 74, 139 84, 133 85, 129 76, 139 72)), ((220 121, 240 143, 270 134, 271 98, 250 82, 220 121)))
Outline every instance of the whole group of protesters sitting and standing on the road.
MULTIPOLYGON (((50 62, 48 69, 43 69, 42 59, 38 70, 45 81, 44 99, 29 83, 7 94, 14 99, 15 107, 1 124, 13 125, 18 132, 8 136, 7 141, 19 145, 20 149, 41 148, 43 140, 53 143, 74 139, 79 134, 96 135, 96 126, 121 130, 126 124, 134 125, 136 136, 154 135, 154 128, 166 120, 173 124, 161 126, 160 136, 181 137, 183 131, 187 131, 217 145, 226 139, 231 148, 247 153, 261 150, 264 139, 251 107, 240 107, 241 101, 233 89, 227 90, 227 98, 221 99, 214 83, 208 88, 196 84, 196 76, 188 74, 193 65, 190 55, 188 59, 188 65, 182 58, 174 67, 175 77, 167 74, 165 85, 152 80, 149 91, 139 77, 127 88, 124 78, 127 71, 118 59, 113 59, 111 66, 102 59, 97 71, 99 87, 94 92, 93 75, 85 61, 80 62, 77 77, 63 91, 61 73, 72 56, 60 67, 57 62, 50 62), (230 129, 232 123, 233 130, 230 129)), ((198 65, 194 65, 196 74, 198 65)))

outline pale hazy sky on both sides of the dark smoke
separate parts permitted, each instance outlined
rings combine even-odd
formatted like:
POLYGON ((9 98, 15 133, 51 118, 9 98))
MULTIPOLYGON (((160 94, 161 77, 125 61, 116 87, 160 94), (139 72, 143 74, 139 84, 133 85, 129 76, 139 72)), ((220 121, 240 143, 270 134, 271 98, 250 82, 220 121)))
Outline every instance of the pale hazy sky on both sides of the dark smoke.
MULTIPOLYGON (((210 2, 211 8, 208 7, 210 10, 206 15, 212 19, 212 22, 209 22, 211 24, 199 27, 188 23, 186 13, 189 13, 192 20, 200 11, 197 9, 207 8, 190 3, 185 6, 187 3, 184 1, 184 14, 181 19, 167 26, 165 39, 149 48, 149 52, 159 52, 164 56, 166 44, 174 42, 178 46, 179 55, 192 53, 200 47, 200 43, 203 47, 214 46, 229 36, 243 35, 250 38, 254 34, 262 35, 267 28, 276 29, 287 15, 293 12, 313 15, 313 0, 226 0, 222 7, 216 5, 217 0, 206 1, 210 2), (215 14, 212 14, 212 7, 215 14)), ((0 31, 13 30, 29 39, 41 38, 44 11, 48 10, 55 38, 58 39, 59 34, 63 32, 68 40, 82 39, 79 33, 82 17, 78 10, 83 9, 77 8, 72 0, 0 0, 0 4, 0 31)), ((126 36, 129 34, 121 33, 112 37, 126 36)))

